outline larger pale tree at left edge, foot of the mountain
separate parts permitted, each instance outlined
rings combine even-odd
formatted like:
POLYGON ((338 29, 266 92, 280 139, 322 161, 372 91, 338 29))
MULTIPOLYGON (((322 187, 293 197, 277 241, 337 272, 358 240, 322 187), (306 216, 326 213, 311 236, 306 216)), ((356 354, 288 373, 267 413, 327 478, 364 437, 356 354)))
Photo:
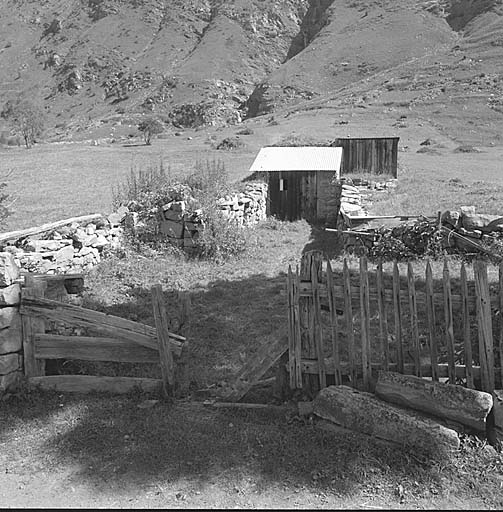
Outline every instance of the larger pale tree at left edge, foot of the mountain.
POLYGON ((8 101, 0 116, 22 135, 27 149, 31 148, 35 138, 44 131, 44 111, 29 100, 8 101))

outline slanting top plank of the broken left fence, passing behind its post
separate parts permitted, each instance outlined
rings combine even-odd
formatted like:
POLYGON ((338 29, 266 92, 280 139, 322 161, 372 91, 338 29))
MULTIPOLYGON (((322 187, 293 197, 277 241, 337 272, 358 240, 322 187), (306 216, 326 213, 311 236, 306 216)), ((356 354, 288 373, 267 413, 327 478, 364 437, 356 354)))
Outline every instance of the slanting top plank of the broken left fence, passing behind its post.
MULTIPOLYGON (((86 327, 93 333, 127 339, 151 349, 157 348, 157 332, 154 327, 79 306, 49 299, 26 297, 21 301, 21 314, 86 327)), ((185 338, 173 333, 169 333, 169 336, 171 350, 179 356, 185 338)))

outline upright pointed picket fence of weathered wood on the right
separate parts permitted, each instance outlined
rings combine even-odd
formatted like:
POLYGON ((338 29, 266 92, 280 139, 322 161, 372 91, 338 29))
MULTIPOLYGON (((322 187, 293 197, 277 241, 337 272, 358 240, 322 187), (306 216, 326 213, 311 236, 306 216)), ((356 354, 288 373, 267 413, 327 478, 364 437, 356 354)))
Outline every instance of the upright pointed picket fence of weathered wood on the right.
POLYGON ((372 389, 380 369, 487 392, 502 385, 503 264, 494 291, 482 261, 473 263, 473 281, 464 264, 451 277, 447 261, 436 280, 429 262, 424 279, 411 263, 401 276, 395 262, 390 275, 382 263, 369 272, 361 257, 353 277, 346 259, 341 272, 323 263, 311 251, 288 270, 290 388, 372 389))

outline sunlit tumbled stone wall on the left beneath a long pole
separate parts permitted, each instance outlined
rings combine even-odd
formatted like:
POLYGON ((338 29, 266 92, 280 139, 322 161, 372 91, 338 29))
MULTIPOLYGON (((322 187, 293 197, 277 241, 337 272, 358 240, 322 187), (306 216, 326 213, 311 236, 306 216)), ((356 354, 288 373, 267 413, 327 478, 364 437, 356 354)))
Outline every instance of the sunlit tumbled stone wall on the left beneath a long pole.
POLYGON ((2 250, 28 272, 61 274, 81 272, 96 265, 104 251, 117 250, 123 243, 122 223, 127 209, 92 221, 71 221, 43 233, 10 239, 2 250))

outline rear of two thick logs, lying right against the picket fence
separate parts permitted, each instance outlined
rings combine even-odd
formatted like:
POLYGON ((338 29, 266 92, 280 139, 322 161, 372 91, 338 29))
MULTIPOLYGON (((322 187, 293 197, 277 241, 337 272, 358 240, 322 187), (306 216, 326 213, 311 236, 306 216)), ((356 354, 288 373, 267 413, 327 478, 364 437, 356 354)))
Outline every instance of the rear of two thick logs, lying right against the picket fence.
POLYGON ((493 406, 489 393, 395 372, 379 373, 375 393, 386 402, 433 414, 481 432, 486 429, 486 418, 493 406))

